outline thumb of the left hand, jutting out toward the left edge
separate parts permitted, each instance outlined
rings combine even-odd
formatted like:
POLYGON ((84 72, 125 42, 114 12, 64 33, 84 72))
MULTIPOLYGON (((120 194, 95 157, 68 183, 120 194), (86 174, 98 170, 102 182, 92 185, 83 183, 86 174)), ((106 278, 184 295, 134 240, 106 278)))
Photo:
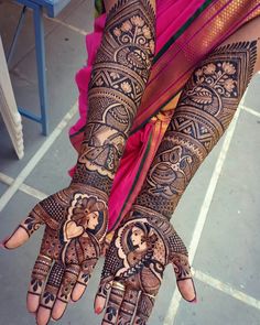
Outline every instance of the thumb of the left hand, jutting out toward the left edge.
POLYGON ((1 246, 7 249, 14 249, 22 246, 29 240, 31 235, 43 224, 44 223, 40 217, 39 205, 36 205, 29 214, 26 219, 24 219, 12 232, 12 235, 2 241, 1 246))

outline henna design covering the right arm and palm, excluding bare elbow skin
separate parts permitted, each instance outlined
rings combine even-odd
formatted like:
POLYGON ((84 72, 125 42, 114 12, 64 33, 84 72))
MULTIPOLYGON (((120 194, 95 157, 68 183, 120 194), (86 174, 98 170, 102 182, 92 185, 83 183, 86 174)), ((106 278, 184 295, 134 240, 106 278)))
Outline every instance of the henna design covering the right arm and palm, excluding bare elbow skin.
POLYGON ((177 286, 185 297, 182 284, 191 280, 187 250, 167 218, 227 129, 251 78, 256 44, 245 42, 217 48, 186 84, 142 191, 129 217, 115 232, 106 257, 100 288, 115 280, 126 288, 112 324, 147 324, 167 263, 173 264, 177 286), (141 294, 131 301, 129 290, 141 294), (132 302, 137 305, 136 315, 132 302))

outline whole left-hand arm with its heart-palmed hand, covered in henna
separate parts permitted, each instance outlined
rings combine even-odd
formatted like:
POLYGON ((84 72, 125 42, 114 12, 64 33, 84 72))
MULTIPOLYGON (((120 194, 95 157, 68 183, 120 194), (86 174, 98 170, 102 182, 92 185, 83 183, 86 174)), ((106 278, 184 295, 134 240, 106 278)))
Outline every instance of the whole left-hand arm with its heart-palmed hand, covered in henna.
MULTIPOLYGON (((115 4, 108 3, 104 37, 93 67, 88 120, 72 183, 40 202, 3 242, 4 248, 14 249, 45 226, 26 301, 39 325, 47 324, 51 317, 59 319, 69 300, 77 301, 86 289, 104 246, 112 180, 151 69, 154 1, 115 4), (87 205, 96 201, 95 210, 102 213, 95 235, 84 236, 85 201, 87 205)), ((88 228, 95 229, 96 224, 89 220, 88 228)))

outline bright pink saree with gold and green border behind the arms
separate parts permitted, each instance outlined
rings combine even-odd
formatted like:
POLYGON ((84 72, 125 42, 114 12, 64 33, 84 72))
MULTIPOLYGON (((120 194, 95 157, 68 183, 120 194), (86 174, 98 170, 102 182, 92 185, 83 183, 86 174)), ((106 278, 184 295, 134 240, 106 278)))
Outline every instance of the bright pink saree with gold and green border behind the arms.
MULTIPOLYGON (((102 8, 96 1, 97 8, 102 8)), ((151 76, 134 119, 109 198, 109 229, 126 216, 137 197, 181 90, 194 67, 247 21, 260 14, 258 0, 156 0, 156 50, 151 76)), ((87 89, 106 14, 99 12, 86 37, 87 66, 76 75, 79 119, 69 130, 78 151, 87 118, 87 89)), ((74 169, 71 170, 73 175, 74 169)))

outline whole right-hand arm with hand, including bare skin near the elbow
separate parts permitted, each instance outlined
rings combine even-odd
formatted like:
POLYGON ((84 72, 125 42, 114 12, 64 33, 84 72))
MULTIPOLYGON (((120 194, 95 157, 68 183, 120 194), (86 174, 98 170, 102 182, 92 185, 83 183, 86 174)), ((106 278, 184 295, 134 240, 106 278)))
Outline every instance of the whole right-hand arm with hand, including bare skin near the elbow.
MULTIPOLYGON (((143 268, 151 271, 151 273, 145 271, 145 275, 139 262, 136 268, 132 264, 127 266, 126 257, 130 248, 127 246, 124 234, 131 221, 149 224, 151 227, 154 227, 154 224, 161 225, 153 228, 154 234, 170 227, 166 220, 173 215, 193 175, 230 123, 251 77, 260 69, 259 54, 260 18, 257 18, 245 24, 199 63, 184 86, 172 122, 160 144, 143 187, 129 216, 115 232, 106 256, 95 301, 95 310, 98 313, 107 305, 102 325, 147 324, 154 304, 152 296, 156 295, 161 283, 160 273, 155 272, 154 278, 156 270, 153 267, 154 261, 159 263, 160 260, 163 266, 172 262, 174 271, 184 270, 185 273, 184 266, 188 266, 188 262, 178 263, 187 258, 183 243, 180 243, 183 247, 181 259, 176 247, 173 247, 173 253, 163 260, 164 251, 171 251, 171 240, 166 239, 169 230, 162 234, 163 242, 153 247, 152 257, 145 261, 143 268), (199 93, 201 89, 203 93, 199 93), (196 117, 199 117, 199 123, 196 117), (195 131, 185 128, 184 123, 194 126, 195 131), (155 223, 150 218, 151 215, 155 215, 155 223), (118 282, 123 289, 118 289, 117 284, 113 284, 118 282), (104 290, 109 286, 110 294, 108 290, 104 290)), ((136 238, 134 240, 138 242, 136 238)), ((155 242, 160 242, 159 236, 155 242)), ((138 258, 138 249, 136 252, 138 258)), ((186 275, 178 278, 182 273, 183 271, 176 273, 182 296, 187 301, 196 301, 188 269, 186 275)))

